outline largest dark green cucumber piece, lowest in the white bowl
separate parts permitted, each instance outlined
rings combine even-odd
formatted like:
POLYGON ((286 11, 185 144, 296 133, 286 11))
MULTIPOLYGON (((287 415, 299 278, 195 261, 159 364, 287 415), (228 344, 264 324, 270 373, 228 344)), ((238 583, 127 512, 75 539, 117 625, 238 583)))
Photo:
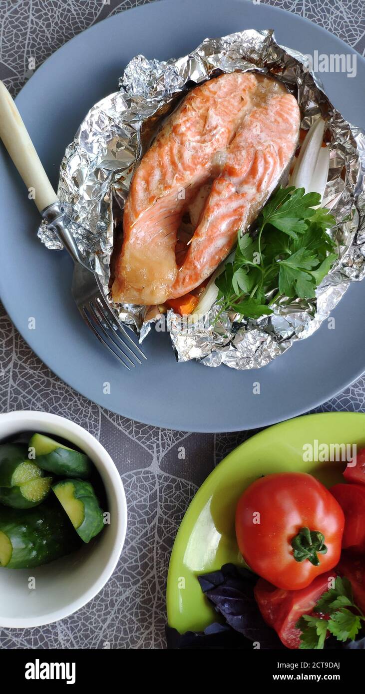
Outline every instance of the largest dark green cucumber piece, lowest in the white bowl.
POLYGON ((0 508, 0 566, 35 568, 80 546, 69 520, 57 506, 36 509, 0 508))

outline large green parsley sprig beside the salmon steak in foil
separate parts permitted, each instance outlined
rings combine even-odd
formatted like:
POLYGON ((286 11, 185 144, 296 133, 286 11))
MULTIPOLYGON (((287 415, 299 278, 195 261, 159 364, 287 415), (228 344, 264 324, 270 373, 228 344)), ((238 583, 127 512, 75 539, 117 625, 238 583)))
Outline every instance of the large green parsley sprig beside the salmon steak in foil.
MULTIPOLYGON (((278 298, 313 298, 337 258, 326 232, 335 219, 319 193, 280 188, 257 220, 255 238, 238 233, 235 257, 215 280, 220 310, 260 318, 278 298)), ((217 316, 217 317, 219 317, 217 316)))

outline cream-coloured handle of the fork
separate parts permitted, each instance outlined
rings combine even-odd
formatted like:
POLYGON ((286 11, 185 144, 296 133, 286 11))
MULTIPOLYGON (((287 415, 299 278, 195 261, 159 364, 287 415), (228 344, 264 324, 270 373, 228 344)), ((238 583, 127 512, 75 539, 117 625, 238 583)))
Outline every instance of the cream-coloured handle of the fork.
POLYGON ((0 137, 40 212, 58 200, 31 137, 6 86, 0 81, 0 137), (32 191, 32 192, 33 192, 32 191))

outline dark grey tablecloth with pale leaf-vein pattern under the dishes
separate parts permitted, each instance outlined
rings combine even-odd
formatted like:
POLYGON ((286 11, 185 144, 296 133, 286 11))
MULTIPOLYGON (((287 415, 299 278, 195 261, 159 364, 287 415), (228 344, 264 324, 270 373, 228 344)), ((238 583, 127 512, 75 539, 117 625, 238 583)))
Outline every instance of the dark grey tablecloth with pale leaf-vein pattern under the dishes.
MULTIPOLYGON (((364 55, 364 0, 266 2, 312 19, 364 55)), ((139 4, 144 0, 2 0, 0 78, 16 94, 30 76, 28 56, 39 66, 87 26, 139 4)), ((55 624, 0 629, 0 648, 164 648, 167 568, 182 516, 212 468, 254 432, 187 434, 112 414, 56 378, 2 308, 0 331, 0 411, 40 409, 85 427, 114 459, 129 511, 124 551, 103 591, 55 624)), ((365 412, 365 379, 319 409, 365 412)))

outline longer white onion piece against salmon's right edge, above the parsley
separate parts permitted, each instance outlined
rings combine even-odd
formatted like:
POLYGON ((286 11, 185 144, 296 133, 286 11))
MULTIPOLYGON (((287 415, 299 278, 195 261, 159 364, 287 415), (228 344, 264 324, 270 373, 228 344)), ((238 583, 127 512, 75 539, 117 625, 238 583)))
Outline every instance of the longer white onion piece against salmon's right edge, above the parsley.
MULTIPOLYGON (((290 176, 289 185, 294 185, 296 188, 304 188, 306 193, 320 192, 314 189, 312 180, 314 179, 314 171, 316 171, 317 162, 319 160, 319 153, 321 149, 325 151, 322 147, 324 131, 325 121, 320 117, 314 121, 307 135, 305 135, 304 142, 300 147, 298 159, 296 160, 290 176)), ((321 195, 323 195, 323 191, 321 195)))

